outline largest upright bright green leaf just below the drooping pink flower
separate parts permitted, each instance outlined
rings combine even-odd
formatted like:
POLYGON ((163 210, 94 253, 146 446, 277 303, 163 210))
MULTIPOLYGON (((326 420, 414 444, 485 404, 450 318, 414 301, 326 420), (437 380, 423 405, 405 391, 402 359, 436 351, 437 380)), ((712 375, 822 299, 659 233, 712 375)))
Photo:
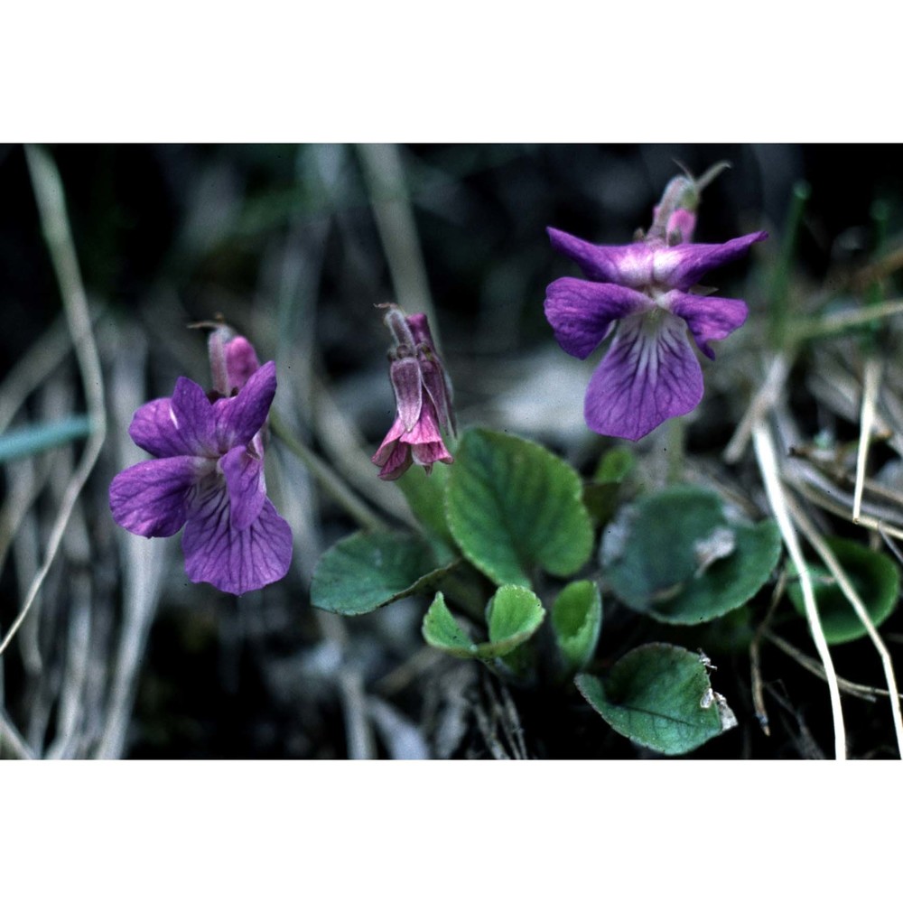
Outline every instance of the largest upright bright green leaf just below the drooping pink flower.
POLYGON ((461 552, 498 584, 529 587, 537 566, 566 577, 591 554, 580 478, 535 442, 489 430, 464 433, 445 505, 461 552))

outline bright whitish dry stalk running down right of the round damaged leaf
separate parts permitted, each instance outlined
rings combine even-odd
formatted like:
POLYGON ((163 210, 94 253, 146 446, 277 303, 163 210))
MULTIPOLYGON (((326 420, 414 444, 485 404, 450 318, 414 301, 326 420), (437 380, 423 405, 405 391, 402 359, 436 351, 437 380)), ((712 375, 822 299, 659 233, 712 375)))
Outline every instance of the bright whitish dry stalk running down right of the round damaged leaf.
POLYGON ((818 618, 812 578, 809 575, 803 552, 799 547, 796 529, 790 519, 787 494, 781 483, 775 446, 768 431, 768 426, 761 421, 755 424, 752 429, 752 440, 756 449, 756 458, 759 461, 759 471, 762 474, 765 491, 768 495, 768 503, 784 538, 787 552, 796 566, 796 573, 799 574, 800 588, 803 591, 803 600, 805 602, 805 617, 809 622, 809 629, 812 631, 818 656, 822 660, 822 666, 824 666, 824 677, 831 697, 831 712, 834 725, 834 757, 836 759, 846 759, 846 729, 843 725, 843 710, 840 688, 837 685, 837 674, 834 671, 831 650, 828 648, 827 640, 824 638, 822 623, 818 618))

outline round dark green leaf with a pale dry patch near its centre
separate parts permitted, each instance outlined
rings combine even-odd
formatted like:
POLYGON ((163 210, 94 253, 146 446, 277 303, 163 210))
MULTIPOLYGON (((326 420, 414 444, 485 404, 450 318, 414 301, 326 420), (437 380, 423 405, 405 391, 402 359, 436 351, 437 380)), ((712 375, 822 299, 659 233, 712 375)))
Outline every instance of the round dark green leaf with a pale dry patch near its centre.
POLYGON ((629 608, 700 624, 751 599, 780 557, 772 520, 749 524, 709 489, 674 486, 628 507, 605 531, 601 559, 629 608))

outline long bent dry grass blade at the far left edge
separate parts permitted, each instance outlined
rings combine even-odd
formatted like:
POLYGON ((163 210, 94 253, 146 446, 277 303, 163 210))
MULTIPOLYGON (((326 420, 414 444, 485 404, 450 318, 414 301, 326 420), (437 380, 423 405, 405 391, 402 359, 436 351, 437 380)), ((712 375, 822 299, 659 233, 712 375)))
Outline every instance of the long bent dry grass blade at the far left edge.
POLYGON ((82 452, 79 466, 72 475, 69 486, 63 495, 56 520, 53 522, 42 566, 35 574, 18 617, 14 620, 3 641, 0 642, 0 655, 9 646, 16 631, 28 615, 33 601, 41 591, 42 583, 59 551, 72 510, 81 490, 88 481, 91 470, 94 470, 106 438, 103 374, 100 369, 97 343, 92 332, 88 300, 81 283, 79 262, 69 228, 60 173, 46 152, 35 147, 26 147, 25 155, 32 176, 35 198, 38 202, 44 238, 47 241, 53 269, 60 284, 63 309, 69 324, 72 346, 79 362, 82 387, 87 399, 88 416, 91 419, 92 429, 84 452, 82 452))

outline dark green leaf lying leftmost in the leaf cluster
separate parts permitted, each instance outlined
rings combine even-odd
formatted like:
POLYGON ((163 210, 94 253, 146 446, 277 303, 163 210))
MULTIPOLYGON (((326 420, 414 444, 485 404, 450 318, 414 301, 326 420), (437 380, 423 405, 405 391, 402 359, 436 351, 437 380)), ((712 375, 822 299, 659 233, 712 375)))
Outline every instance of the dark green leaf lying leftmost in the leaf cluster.
POLYGON ((355 533, 333 545, 317 563, 311 601, 325 611, 362 615, 432 589, 453 566, 437 568, 429 546, 416 536, 355 533))

